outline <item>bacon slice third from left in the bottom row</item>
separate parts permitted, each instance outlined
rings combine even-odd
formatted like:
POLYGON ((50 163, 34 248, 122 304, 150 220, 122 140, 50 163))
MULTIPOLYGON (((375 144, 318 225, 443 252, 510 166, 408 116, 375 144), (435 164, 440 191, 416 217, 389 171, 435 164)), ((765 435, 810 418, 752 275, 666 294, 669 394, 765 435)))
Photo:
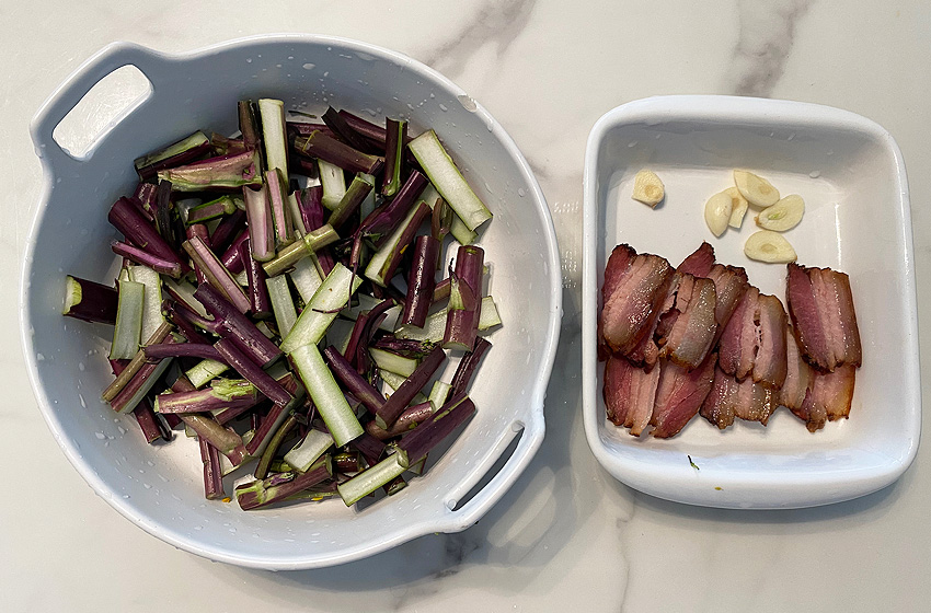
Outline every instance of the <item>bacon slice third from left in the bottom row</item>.
POLYGON ((749 377, 737 381, 721 368, 714 369, 711 391, 702 403, 701 416, 724 429, 735 417, 767 425, 770 415, 779 407, 775 394, 749 377))

